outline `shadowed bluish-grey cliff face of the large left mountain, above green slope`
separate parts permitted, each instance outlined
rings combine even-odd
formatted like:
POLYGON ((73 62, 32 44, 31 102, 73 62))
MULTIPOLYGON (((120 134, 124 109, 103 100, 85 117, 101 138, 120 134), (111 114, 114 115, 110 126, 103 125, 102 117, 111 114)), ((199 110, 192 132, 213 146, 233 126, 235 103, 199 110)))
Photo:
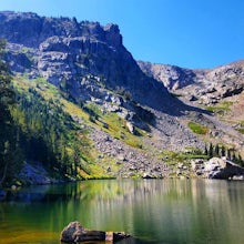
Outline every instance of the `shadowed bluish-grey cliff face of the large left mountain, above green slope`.
POLYGON ((12 71, 43 77, 75 99, 94 95, 89 93, 94 87, 91 77, 100 99, 104 88, 123 88, 134 100, 151 106, 162 106, 167 99, 164 85, 148 78, 124 48, 116 24, 102 27, 31 12, 0 12, 0 37, 9 42, 12 71))

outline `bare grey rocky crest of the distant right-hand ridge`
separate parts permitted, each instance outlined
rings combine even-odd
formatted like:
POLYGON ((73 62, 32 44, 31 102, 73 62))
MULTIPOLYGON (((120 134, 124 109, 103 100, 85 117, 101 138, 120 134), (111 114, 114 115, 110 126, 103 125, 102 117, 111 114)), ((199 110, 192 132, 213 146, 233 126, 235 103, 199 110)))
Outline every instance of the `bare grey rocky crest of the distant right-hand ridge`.
POLYGON ((191 70, 142 61, 138 63, 149 77, 163 82, 169 90, 186 96, 190 102, 213 104, 244 90, 244 61, 209 70, 191 70))

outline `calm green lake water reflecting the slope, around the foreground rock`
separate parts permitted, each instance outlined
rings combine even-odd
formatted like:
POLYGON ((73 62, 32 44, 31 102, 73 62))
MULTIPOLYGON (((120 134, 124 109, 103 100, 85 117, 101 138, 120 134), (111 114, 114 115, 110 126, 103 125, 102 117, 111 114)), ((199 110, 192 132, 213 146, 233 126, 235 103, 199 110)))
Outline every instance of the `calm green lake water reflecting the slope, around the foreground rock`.
POLYGON ((0 202, 0 243, 57 244, 71 221, 120 244, 243 244, 244 182, 108 180, 22 189, 0 202))

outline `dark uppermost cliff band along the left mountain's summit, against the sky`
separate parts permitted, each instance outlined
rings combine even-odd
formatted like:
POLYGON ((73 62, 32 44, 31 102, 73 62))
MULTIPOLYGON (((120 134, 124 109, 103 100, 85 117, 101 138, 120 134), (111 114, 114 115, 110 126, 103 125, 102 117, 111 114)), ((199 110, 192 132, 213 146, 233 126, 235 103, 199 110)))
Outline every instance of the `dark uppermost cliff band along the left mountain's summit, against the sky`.
POLYGON ((99 22, 81 21, 75 18, 47 18, 32 12, 0 12, 1 37, 13 43, 38 48, 51 37, 87 37, 110 45, 122 45, 122 37, 116 24, 102 27, 99 22))

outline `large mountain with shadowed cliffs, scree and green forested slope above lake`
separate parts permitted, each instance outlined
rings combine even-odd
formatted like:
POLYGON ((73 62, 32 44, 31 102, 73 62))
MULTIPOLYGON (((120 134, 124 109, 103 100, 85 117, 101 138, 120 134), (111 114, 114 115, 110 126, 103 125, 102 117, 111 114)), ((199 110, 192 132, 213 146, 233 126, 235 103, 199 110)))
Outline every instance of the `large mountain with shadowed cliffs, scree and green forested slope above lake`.
POLYGON ((199 88, 218 82, 218 74, 136 62, 116 24, 4 11, 0 29, 26 161, 54 177, 162 177, 175 175, 175 162, 185 162, 189 175, 190 157, 204 156, 212 144, 243 153, 241 121, 236 129, 223 124, 175 94, 195 85, 191 94, 200 101, 199 88))

